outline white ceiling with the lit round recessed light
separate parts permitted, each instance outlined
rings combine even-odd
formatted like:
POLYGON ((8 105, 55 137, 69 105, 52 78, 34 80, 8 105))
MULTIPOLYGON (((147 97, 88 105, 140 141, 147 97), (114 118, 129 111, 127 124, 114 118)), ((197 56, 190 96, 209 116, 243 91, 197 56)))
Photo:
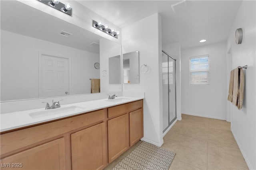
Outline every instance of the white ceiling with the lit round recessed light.
MULTIPOLYGON (((162 16, 162 44, 182 48, 226 41, 240 0, 79 0, 80 4, 124 28, 147 16, 162 16), (206 39, 205 43, 199 43, 206 39)), ((145 25, 149 26, 149 25, 145 25)))

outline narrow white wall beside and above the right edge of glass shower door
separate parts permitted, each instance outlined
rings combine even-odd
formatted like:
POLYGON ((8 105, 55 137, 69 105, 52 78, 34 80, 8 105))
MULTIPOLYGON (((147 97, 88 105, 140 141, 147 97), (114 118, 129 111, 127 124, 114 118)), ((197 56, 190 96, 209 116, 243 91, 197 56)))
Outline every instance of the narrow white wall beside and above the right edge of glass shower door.
MULTIPOLYGON (((181 120, 181 60, 180 43, 163 45, 162 49, 176 59, 176 111, 177 119, 181 120)), ((164 93, 166 94, 166 93, 164 93)), ((167 93, 168 94, 168 93, 167 93)))

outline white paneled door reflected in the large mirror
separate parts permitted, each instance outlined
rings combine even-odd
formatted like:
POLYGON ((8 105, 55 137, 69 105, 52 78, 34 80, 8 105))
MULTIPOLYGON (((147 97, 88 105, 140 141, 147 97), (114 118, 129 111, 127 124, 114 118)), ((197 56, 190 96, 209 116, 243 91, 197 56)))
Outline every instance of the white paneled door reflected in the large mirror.
POLYGON ((41 55, 39 97, 68 95, 68 59, 41 55))

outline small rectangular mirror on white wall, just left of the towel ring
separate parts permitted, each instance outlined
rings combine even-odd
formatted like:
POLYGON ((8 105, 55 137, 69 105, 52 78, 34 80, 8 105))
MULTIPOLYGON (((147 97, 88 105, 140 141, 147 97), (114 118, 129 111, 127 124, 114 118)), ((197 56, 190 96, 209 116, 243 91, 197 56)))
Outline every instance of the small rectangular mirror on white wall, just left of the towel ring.
POLYGON ((139 51, 123 54, 123 79, 124 84, 140 83, 139 51))

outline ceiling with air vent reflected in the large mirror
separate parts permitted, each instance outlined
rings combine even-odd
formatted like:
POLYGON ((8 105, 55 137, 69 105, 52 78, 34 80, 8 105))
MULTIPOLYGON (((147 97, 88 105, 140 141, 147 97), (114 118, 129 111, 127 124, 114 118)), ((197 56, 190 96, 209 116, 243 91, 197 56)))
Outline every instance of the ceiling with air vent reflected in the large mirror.
POLYGON ((53 43, 100 53, 100 36, 18 1, 1 0, 1 29, 53 43), (69 37, 61 31, 71 33, 69 37))

